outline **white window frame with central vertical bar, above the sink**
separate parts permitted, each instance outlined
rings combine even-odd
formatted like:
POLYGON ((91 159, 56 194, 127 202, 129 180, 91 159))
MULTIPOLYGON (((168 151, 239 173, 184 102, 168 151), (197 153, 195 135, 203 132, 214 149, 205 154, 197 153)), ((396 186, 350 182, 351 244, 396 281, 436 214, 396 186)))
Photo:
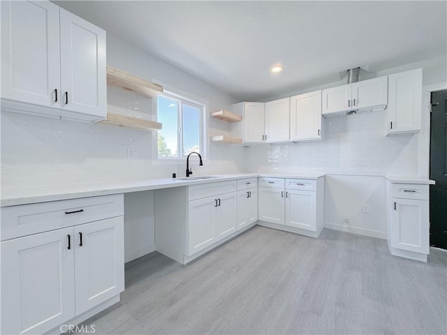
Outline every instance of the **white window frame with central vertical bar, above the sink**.
MULTIPOLYGON (((166 87, 166 84, 161 84, 164 87, 166 87)), ((201 111, 201 117, 200 117, 200 137, 199 137, 199 146, 200 146, 200 156, 202 156, 202 159, 205 163, 207 160, 207 102, 203 101, 203 99, 200 99, 196 96, 192 96, 191 94, 187 94, 185 92, 179 91, 177 89, 163 89, 163 94, 160 94, 161 96, 165 96, 166 98, 170 98, 176 101, 179 101, 179 104, 177 105, 177 152, 181 153, 179 156, 172 156, 172 157, 163 157, 159 156, 159 149, 158 149, 158 131, 154 132, 153 144, 152 144, 152 163, 153 164, 180 164, 184 163, 186 160, 186 155, 183 152, 183 111, 182 106, 183 105, 190 105, 191 107, 198 108, 201 111)), ((153 119, 158 119, 158 104, 157 104, 157 98, 152 99, 152 110, 154 111, 153 119)), ((190 158, 192 161, 197 160, 198 157, 196 155, 191 156, 190 158)))

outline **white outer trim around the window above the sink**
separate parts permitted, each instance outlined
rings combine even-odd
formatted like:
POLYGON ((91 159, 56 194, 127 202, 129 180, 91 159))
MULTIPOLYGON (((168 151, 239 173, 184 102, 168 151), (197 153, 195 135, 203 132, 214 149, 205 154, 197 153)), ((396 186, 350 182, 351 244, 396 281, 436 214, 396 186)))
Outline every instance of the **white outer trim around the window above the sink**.
MULTIPOLYGON (((202 145, 203 149, 201 148, 200 156, 202 156, 203 164, 207 165, 207 110, 209 107, 209 101, 204 100, 203 98, 200 98, 198 96, 194 96, 193 94, 190 94, 188 92, 182 91, 181 89, 177 89, 176 87, 172 87, 169 84, 160 82, 159 80, 152 79, 152 82, 155 84, 161 85, 163 87, 163 93, 166 93, 170 96, 182 98, 182 100, 185 101, 191 101, 191 103, 195 105, 200 105, 203 107, 203 114, 202 114, 202 145)), ((156 98, 152 98, 152 119, 154 121, 157 120, 157 105, 156 105, 156 98)), ((190 162, 198 162, 198 156, 193 155, 191 158, 189 158, 190 162)), ((152 132, 152 165, 184 165, 186 164, 186 158, 185 157, 166 157, 166 158, 159 158, 159 148, 158 148, 158 131, 152 132)))

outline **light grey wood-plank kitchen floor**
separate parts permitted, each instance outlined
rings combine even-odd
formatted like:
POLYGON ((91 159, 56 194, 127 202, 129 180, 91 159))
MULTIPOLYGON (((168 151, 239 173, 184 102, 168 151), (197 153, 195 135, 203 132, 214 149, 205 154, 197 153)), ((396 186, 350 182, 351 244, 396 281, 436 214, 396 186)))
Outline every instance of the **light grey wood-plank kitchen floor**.
POLYGON ((318 239, 255 226, 180 265, 126 265, 122 301, 95 334, 447 334, 447 252, 427 263, 385 240, 325 229, 318 239))

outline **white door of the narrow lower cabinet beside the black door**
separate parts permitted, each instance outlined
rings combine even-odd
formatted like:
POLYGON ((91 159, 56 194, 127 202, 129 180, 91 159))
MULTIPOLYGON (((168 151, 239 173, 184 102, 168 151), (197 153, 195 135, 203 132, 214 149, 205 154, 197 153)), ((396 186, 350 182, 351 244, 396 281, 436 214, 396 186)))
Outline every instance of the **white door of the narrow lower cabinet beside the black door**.
POLYGON ((429 253, 428 200, 392 198, 391 246, 429 253))

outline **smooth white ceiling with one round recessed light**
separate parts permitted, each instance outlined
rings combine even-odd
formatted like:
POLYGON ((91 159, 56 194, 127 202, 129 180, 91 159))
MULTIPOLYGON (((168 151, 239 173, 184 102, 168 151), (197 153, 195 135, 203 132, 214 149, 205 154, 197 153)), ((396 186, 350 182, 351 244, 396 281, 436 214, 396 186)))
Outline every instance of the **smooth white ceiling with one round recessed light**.
POLYGON ((446 1, 54 2, 244 101, 447 53, 446 1))

